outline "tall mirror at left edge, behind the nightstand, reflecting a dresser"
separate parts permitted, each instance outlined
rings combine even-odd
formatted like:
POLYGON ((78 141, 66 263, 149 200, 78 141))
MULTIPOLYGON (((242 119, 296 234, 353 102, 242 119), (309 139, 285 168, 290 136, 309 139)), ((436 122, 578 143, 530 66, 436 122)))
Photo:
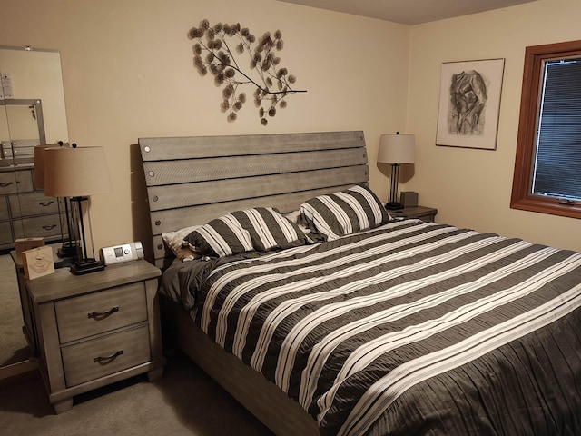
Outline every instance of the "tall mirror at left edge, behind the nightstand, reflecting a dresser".
POLYGON ((33 183, 34 146, 59 141, 68 142, 60 53, 0 46, 0 380, 31 367, 10 252, 15 238, 62 239, 58 202, 33 183))

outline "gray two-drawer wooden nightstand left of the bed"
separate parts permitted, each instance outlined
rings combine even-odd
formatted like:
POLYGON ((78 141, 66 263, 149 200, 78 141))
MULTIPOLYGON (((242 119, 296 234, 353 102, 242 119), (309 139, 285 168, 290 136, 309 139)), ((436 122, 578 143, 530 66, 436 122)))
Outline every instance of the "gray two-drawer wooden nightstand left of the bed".
POLYGON ((74 275, 68 268, 24 280, 31 302, 39 367, 56 413, 73 397, 147 372, 162 376, 157 278, 151 263, 110 265, 74 275))

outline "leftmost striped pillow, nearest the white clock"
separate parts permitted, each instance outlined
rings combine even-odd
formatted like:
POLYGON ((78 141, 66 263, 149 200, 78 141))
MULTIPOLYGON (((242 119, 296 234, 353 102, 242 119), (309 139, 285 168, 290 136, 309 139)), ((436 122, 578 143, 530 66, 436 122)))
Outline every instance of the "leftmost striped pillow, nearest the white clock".
POLYGON ((184 242, 202 256, 224 257, 236 253, 251 252, 251 233, 229 213, 188 234, 184 242))

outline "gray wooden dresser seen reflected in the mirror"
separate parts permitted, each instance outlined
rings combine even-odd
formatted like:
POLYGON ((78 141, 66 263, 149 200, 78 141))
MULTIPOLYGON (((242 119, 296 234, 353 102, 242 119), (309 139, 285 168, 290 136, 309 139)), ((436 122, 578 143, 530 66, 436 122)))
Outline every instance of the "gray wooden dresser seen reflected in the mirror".
POLYGON ((0 168, 0 250, 18 238, 61 240, 62 200, 34 190, 34 166, 0 168))

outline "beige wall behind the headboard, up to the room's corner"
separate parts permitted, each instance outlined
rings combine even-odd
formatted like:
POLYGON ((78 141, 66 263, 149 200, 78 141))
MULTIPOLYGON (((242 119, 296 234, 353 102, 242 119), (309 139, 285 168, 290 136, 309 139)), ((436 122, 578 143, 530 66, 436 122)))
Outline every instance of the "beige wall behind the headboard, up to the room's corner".
POLYGON ((379 135, 406 122, 409 26, 275 0, 3 0, 2 16, 0 45, 61 51, 70 140, 105 147, 114 189, 93 197, 97 247, 147 242, 133 145, 144 136, 360 129, 371 185, 387 195, 373 162, 379 135), (251 103, 228 123, 222 90, 192 66, 186 35, 203 18, 240 22, 257 36, 280 29, 282 64, 308 92, 292 95, 266 128, 251 103))

